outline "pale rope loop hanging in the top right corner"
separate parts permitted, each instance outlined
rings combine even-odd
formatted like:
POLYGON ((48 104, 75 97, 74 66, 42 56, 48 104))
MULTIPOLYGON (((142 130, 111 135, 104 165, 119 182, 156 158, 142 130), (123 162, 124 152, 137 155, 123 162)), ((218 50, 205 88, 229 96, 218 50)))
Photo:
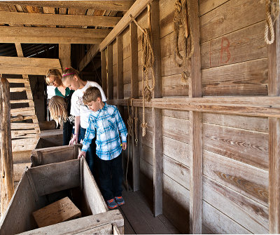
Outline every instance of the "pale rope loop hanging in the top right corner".
POLYGON ((279 15, 279 1, 278 0, 266 0, 266 22, 265 22, 265 42, 272 44, 274 42, 274 22, 279 15), (272 22, 272 17, 274 21, 272 22), (270 32, 270 40, 268 34, 270 32))

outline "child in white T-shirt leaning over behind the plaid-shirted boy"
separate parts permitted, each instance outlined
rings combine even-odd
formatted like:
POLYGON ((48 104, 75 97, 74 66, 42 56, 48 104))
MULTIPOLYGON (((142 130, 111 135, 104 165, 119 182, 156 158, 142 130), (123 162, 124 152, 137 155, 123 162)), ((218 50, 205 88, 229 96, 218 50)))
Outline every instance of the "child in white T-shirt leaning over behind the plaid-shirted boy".
MULTIPOLYGON (((106 102, 106 95, 104 94, 102 87, 99 86, 98 83, 96 83, 95 81, 83 81, 82 79, 80 79, 79 72, 72 67, 66 68, 64 70, 64 73, 62 75, 62 83, 67 88, 75 90, 71 98, 70 112, 71 115, 75 116, 75 133, 73 134, 73 138, 69 142, 69 145, 73 145, 74 142, 78 143, 78 141, 85 139, 85 130, 88 127, 88 116, 90 116, 91 113, 90 109, 87 109, 87 107, 83 104, 83 93, 90 86, 94 86, 99 88, 102 94, 102 100, 104 102, 106 102), (79 139, 78 133, 80 133, 79 139)), ((95 144, 94 140, 92 140, 92 144, 87 151, 87 157, 85 158, 85 160, 87 161, 92 174, 96 176, 96 174, 94 173, 94 169, 96 169, 96 166, 94 166, 94 156, 95 144)))

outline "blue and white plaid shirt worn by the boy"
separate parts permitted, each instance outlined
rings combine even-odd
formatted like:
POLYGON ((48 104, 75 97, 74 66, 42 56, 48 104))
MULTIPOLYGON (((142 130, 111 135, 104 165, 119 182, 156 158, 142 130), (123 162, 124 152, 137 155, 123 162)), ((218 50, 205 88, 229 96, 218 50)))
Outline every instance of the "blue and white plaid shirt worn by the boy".
POLYGON ((111 160, 119 156, 122 152, 120 137, 122 142, 127 142, 127 128, 118 108, 105 103, 102 109, 90 114, 88 122, 90 125, 85 133, 82 151, 87 152, 95 137, 95 130, 97 130, 97 140, 95 141, 97 156, 102 160, 111 160))

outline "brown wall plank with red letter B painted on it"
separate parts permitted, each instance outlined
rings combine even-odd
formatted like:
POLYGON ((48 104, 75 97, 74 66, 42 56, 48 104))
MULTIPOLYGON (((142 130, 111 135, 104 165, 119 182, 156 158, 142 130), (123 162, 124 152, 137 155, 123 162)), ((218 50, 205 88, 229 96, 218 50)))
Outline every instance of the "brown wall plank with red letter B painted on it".
POLYGON ((267 57, 265 21, 201 44, 202 69, 267 57))

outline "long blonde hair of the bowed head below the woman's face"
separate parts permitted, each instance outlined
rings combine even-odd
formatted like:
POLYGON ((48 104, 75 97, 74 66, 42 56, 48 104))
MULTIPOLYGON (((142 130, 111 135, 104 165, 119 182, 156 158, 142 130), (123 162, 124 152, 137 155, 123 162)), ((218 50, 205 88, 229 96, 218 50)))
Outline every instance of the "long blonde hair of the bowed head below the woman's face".
POLYGON ((52 96, 48 102, 48 109, 50 110, 50 116, 57 125, 60 121, 67 121, 67 102, 63 97, 58 95, 52 96))

